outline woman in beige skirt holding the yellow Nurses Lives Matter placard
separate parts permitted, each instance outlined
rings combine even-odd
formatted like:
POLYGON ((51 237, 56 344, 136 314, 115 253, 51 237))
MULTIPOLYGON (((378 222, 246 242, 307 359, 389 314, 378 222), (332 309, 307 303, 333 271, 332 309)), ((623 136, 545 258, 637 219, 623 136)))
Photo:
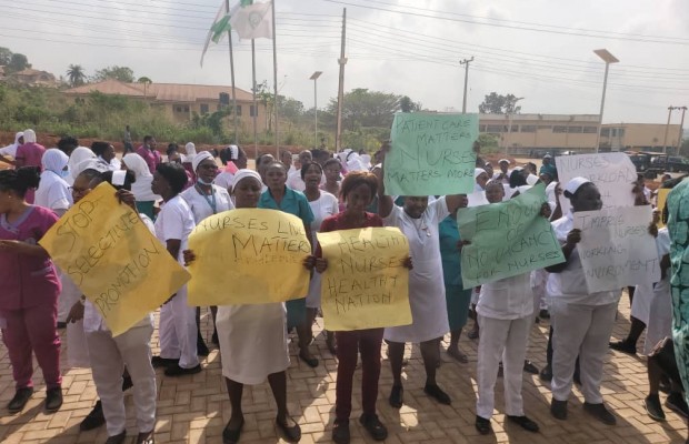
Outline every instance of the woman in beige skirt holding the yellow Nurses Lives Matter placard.
MULTIPOLYGON (((234 174, 234 205, 254 209, 261 195, 261 176, 256 171, 239 170, 234 174)), ((193 251, 184 251, 190 264, 193 251)), ((228 387, 232 415, 222 431, 222 442, 237 443, 244 425, 241 397, 244 384, 260 384, 266 379, 278 405, 276 422, 290 442, 301 438, 299 424, 287 412, 287 315, 284 303, 218 306, 218 339, 222 360, 222 375, 228 387)))

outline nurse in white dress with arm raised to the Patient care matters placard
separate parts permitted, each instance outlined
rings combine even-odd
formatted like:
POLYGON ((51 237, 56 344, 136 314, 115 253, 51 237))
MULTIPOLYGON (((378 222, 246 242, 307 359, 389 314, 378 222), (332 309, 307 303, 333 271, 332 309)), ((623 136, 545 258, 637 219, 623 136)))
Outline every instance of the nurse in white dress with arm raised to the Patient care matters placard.
MULTIPOLYGON (((389 145, 381 150, 388 151, 389 145)), ((409 304, 412 323, 386 329, 388 357, 392 370, 390 405, 400 408, 403 403, 402 360, 405 343, 420 344, 426 367, 423 392, 441 404, 451 404, 450 396, 436 382, 436 370, 440 361, 440 340, 450 330, 448 324, 440 258, 438 225, 459 208, 465 196, 442 196, 431 203, 428 196, 406 196, 403 208, 396 206, 392 198, 385 195, 383 168, 379 170, 378 215, 386 226, 397 226, 409 240, 413 269, 409 272, 409 304)))

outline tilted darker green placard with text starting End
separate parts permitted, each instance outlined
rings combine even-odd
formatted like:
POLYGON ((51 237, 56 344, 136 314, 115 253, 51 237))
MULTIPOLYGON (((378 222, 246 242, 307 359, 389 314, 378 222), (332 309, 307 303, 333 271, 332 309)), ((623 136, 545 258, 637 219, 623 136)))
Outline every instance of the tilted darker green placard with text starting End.
POLYGON ((506 202, 457 212, 462 240, 465 289, 565 262, 548 219, 541 215, 546 189, 538 184, 506 202))

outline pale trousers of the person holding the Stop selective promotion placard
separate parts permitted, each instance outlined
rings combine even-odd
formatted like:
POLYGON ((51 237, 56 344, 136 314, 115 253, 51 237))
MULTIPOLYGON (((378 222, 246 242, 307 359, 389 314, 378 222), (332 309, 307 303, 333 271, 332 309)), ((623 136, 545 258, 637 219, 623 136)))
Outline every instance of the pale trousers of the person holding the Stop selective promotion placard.
POLYGON ((137 426, 150 432, 156 426, 156 372, 151 365, 151 334, 153 325, 134 326, 112 337, 108 330, 87 333, 91 370, 98 396, 103 406, 108 435, 126 430, 122 372, 124 365, 133 383, 137 426))

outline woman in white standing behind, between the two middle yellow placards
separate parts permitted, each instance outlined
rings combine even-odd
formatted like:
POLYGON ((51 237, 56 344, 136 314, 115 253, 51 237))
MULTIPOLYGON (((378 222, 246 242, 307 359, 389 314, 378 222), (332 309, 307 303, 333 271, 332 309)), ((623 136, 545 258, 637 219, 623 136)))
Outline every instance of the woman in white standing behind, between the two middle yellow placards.
MULTIPOLYGON (((321 167, 320 163, 310 162, 301 165, 300 174, 301 180, 306 184, 303 194, 307 196, 309 206, 311 206, 311 211, 313 212, 311 233, 317 233, 320 231, 320 225, 326 218, 339 213, 338 198, 320 189, 320 181, 323 176, 323 167, 321 167)), ((338 188, 339 186, 338 182, 338 188)), ((313 250, 316 250, 316 240, 313 240, 312 245, 313 250)), ((320 309, 320 274, 313 273, 313 275, 311 275, 311 282, 309 283, 309 294, 307 294, 307 322, 310 325, 313 324, 316 312, 320 309)), ((326 333, 326 345, 328 345, 330 353, 334 355, 337 351, 334 346, 334 334, 332 332, 326 333)))

